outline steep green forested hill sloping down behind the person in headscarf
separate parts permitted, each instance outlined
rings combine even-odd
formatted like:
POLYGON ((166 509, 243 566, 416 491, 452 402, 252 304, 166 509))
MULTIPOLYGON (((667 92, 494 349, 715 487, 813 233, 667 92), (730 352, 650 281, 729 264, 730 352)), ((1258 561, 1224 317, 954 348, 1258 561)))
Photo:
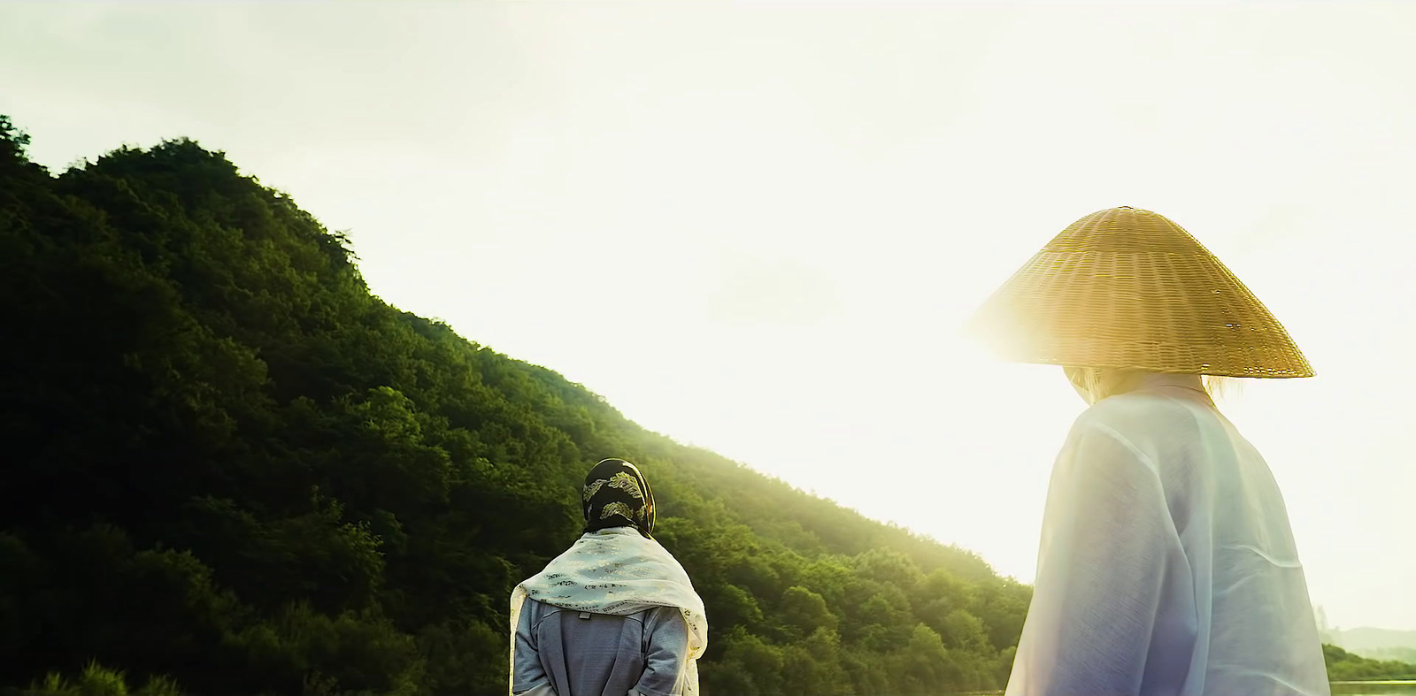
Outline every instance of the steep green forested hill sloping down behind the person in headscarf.
POLYGON ((221 153, 55 175, 0 130, 0 686, 96 661, 212 696, 504 695, 511 587, 603 457, 650 477, 708 605, 707 695, 1004 683, 1029 588, 978 557, 388 306, 221 153))

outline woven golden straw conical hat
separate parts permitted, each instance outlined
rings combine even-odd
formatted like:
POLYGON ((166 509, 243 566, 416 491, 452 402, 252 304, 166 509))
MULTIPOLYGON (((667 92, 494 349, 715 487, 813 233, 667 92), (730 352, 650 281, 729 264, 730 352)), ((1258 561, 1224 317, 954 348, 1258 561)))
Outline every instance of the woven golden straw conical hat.
POLYGON ((1313 376, 1279 320, 1219 259, 1180 225, 1134 208, 1063 229, 970 328, 1017 362, 1313 376))

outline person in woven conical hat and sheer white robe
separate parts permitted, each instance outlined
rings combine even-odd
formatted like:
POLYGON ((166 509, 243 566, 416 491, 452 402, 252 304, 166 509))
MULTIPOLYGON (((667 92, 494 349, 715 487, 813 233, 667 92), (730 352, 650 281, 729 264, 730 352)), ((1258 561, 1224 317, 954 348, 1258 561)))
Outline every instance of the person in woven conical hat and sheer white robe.
POLYGON ((1089 407, 1056 458, 1010 696, 1328 696, 1283 495, 1214 378, 1313 369, 1180 225, 1129 207, 1052 239, 977 335, 1089 407))

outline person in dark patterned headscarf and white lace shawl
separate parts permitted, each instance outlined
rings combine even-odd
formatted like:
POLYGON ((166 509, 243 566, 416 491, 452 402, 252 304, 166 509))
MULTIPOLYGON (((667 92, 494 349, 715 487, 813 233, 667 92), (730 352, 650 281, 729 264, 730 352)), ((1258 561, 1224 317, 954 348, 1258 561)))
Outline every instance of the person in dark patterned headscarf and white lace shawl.
POLYGON ((603 460, 581 491, 585 533, 511 593, 511 693, 697 696, 704 603, 654 540, 654 492, 603 460))

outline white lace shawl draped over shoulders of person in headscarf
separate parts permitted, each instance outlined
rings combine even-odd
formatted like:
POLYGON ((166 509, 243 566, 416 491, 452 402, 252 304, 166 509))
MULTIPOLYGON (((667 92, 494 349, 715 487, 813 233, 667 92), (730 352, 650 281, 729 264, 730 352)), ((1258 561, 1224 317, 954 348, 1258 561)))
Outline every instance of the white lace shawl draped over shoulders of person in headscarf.
MULTIPOLYGON (((517 663, 517 625, 527 598, 554 607, 627 617, 653 607, 674 607, 688 627, 684 696, 698 695, 698 658, 708 648, 704 601, 688 573, 667 549, 633 528, 581 536, 539 574, 511 591, 511 671, 517 663)), ((510 693, 508 679, 508 693, 510 693)))

